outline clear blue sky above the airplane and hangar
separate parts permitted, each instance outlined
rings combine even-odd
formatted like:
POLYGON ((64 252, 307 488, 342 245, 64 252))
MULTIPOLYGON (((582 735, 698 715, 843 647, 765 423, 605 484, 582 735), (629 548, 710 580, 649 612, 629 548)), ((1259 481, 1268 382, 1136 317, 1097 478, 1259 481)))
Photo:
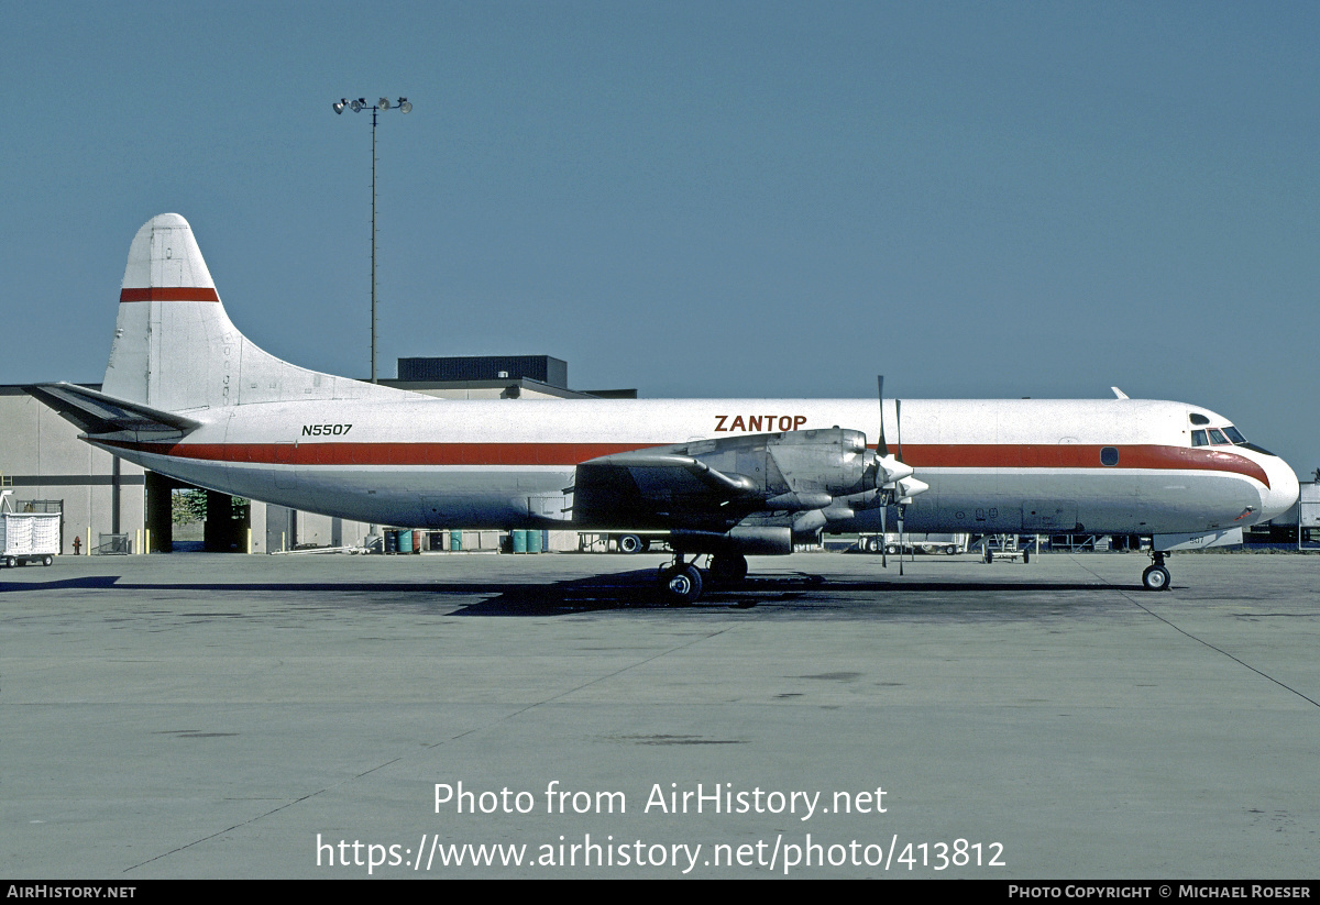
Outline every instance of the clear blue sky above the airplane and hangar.
POLYGON ((1177 398, 1320 466, 1320 7, 5 4, 0 383, 186 216, 271 352, 663 396, 1177 398))

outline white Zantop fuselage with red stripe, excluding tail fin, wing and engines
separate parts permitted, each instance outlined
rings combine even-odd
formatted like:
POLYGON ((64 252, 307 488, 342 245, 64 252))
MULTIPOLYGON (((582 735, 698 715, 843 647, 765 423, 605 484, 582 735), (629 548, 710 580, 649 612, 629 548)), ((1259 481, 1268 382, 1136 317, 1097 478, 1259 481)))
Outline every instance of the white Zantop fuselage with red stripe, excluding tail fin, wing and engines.
MULTIPOLYGON (((1192 533, 1245 526, 1296 499, 1276 456, 1193 447, 1180 402, 887 400, 891 451, 931 489, 917 532, 1192 533), (895 431, 894 426, 899 430, 895 431)), ((867 400, 499 400, 271 402, 187 413, 176 443, 102 443, 211 489, 378 524, 630 529, 572 522, 574 467, 672 443, 777 430, 867 429, 867 400)), ((1290 482, 1291 479, 1291 482, 1290 482)), ((1291 484, 1291 485, 1290 485, 1291 484)), ((879 530, 879 508, 830 532, 879 530)))

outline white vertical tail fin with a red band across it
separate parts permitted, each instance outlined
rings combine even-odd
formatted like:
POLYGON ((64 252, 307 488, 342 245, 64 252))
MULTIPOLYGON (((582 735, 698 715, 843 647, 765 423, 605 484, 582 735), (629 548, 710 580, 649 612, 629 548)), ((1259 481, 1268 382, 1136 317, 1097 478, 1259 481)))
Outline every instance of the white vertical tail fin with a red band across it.
POLYGON ((408 394, 298 368, 257 348, 230 322, 178 214, 153 216, 128 248, 102 392, 165 412, 408 394))

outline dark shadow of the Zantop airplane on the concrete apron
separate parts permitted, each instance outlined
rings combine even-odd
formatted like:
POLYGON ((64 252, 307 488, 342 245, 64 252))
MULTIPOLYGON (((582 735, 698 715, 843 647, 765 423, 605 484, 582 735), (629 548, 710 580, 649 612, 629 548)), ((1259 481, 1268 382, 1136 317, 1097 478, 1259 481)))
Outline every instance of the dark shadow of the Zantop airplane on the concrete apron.
MULTIPOLYGON (((474 595, 482 600, 459 603, 455 616, 550 616, 607 609, 664 609, 669 604, 656 587, 653 570, 603 573, 544 584, 495 582, 120 582, 116 575, 94 575, 49 582, 0 582, 0 592, 17 591, 191 591, 197 594, 388 594, 474 595)), ((882 595, 911 602, 915 595, 968 595, 1003 592, 1067 592, 1139 590, 1100 582, 937 582, 898 578, 829 579, 813 573, 754 575, 737 586, 708 584, 696 609, 747 609, 760 604, 813 606, 836 603, 838 595, 882 595)), ((370 598, 368 598, 370 599, 370 598)), ((847 600, 838 600, 846 606, 847 600)))

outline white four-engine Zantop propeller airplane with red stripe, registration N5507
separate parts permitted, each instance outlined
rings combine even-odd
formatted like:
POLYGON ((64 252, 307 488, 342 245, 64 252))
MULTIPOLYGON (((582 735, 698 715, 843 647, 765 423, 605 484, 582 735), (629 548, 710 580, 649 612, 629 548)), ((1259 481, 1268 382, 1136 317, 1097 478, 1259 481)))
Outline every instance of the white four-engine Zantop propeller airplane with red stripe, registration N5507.
MULTIPOLYGON (((83 439, 236 496, 372 524, 663 533, 676 602, 820 532, 1241 538, 1298 478, 1224 417, 1130 400, 438 400, 306 371, 224 313, 187 222, 128 251, 100 392, 29 388, 83 439), (884 434, 892 425, 895 451, 884 434), (874 447, 865 429, 878 429, 874 447), (708 571, 696 567, 709 554, 708 571), (686 561, 692 557, 692 561, 686 561)), ((883 389, 883 383, 882 383, 883 389)))

